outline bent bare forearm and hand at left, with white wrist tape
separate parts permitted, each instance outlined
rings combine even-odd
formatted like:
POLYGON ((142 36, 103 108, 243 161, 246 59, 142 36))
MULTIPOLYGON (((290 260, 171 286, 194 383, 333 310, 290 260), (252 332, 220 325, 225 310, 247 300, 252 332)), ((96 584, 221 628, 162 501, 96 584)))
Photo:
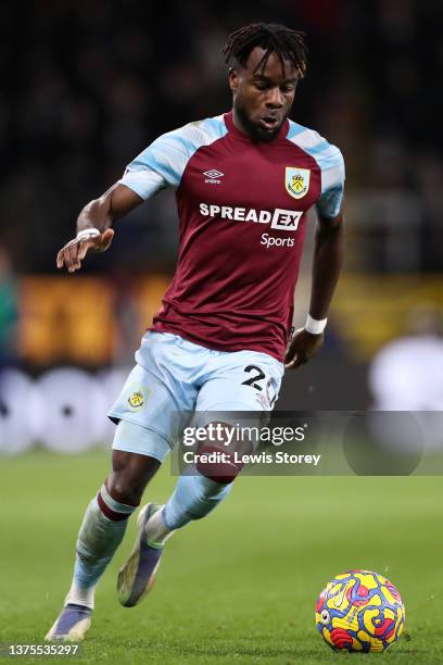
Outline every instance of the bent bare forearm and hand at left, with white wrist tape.
POLYGON ((74 273, 88 252, 104 252, 114 236, 113 222, 142 202, 138 193, 122 183, 115 183, 99 199, 90 201, 78 215, 77 236, 60 250, 56 267, 74 273))

